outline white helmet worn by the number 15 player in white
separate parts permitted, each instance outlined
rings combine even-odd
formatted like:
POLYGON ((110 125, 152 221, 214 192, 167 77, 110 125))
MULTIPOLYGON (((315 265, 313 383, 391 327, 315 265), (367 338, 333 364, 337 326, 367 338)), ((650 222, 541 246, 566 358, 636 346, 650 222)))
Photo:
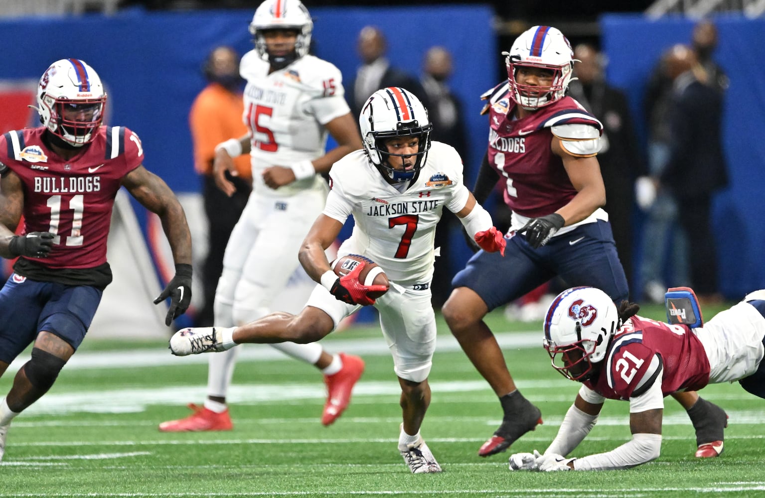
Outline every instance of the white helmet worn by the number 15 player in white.
POLYGON ((254 37, 255 50, 262 60, 271 63, 272 66, 281 69, 288 66, 293 60, 308 54, 311 47, 311 32, 314 31, 314 21, 308 8, 300 0, 265 0, 252 16, 249 23, 249 32, 254 37), (290 29, 298 32, 298 40, 295 42, 295 54, 288 57, 269 59, 268 47, 265 44, 263 31, 269 29, 290 29))

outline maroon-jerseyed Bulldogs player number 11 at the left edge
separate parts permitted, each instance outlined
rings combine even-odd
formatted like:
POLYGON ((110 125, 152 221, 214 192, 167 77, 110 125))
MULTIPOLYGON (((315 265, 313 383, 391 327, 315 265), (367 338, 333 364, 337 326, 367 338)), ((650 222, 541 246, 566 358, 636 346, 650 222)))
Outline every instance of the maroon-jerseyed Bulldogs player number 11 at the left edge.
POLYGON ((165 324, 191 299, 191 235, 167 184, 142 165, 141 140, 102 125, 106 93, 96 71, 57 60, 37 87, 42 126, 0 136, 0 256, 18 256, 0 291, 0 376, 29 344, 31 360, 0 400, 0 459, 8 425, 53 386, 82 343, 112 281, 106 239, 120 187, 158 214, 175 276, 155 300, 171 298, 165 324), (24 215, 24 231, 8 227, 24 215))

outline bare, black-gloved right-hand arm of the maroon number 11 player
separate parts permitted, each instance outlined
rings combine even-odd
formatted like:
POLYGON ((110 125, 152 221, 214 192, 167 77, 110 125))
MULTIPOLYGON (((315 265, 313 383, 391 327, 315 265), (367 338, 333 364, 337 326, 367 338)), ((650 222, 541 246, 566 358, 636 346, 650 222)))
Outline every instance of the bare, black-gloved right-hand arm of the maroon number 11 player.
POLYGON ((157 214, 168 237, 175 262, 175 276, 155 299, 155 304, 171 298, 164 323, 184 314, 191 302, 191 233, 184 208, 168 184, 143 165, 122 178, 122 185, 143 207, 157 214))

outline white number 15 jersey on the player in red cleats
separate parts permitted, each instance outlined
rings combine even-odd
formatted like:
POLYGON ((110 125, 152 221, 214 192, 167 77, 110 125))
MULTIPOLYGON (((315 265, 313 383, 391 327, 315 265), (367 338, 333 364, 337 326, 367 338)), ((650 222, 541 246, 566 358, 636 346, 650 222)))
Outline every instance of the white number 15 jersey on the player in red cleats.
MULTIPOLYGON (((239 65, 239 73, 247 80, 243 120, 250 131, 252 178, 256 183, 262 183, 265 168, 289 167, 324 155, 324 125, 350 112, 343 96, 342 75, 332 63, 305 55, 270 74, 269 67, 255 50, 245 54, 239 65)), ((314 175, 279 187, 278 194, 295 193, 321 181, 314 175)), ((259 190, 269 193, 271 189, 259 190)))

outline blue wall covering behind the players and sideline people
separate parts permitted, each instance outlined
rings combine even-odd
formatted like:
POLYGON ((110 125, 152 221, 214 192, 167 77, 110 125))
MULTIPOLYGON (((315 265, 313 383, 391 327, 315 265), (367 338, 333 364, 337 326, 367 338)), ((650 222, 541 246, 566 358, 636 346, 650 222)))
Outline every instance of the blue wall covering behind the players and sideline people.
MULTIPOLYGON (((478 95, 496 83, 500 56, 489 7, 313 8, 315 51, 334 62, 345 83, 359 63, 356 35, 376 24, 389 38, 389 58, 419 73, 422 54, 435 44, 454 54, 457 73, 451 86, 463 100, 470 131, 466 174, 473 178, 483 154, 486 122, 478 95), (406 18, 405 27, 401 19, 406 18), (400 33, 400 34, 399 34, 400 33)), ((21 18, 0 20, 0 93, 13 80, 37 80, 53 60, 79 57, 93 65, 109 89, 110 122, 142 138, 146 166, 178 192, 196 192, 187 113, 203 88, 201 61, 210 48, 229 44, 249 50, 247 24, 252 11, 189 13, 121 11, 105 18, 21 18)), ((717 18, 720 46, 715 54, 731 77, 726 99, 724 145, 731 186, 715 204, 721 291, 739 298, 765 287, 763 185, 765 185, 765 21, 717 18)), ((646 21, 637 15, 604 15, 603 46, 610 60, 607 76, 630 96, 640 125, 640 103, 649 71, 662 50, 690 38, 692 21, 646 21)), ((0 109, 3 112, 3 109, 0 109)), ((644 132, 641 129, 641 137, 644 132)), ((142 210, 137 210, 142 216, 142 210)), ((636 216, 640 224, 640 216, 636 216)), ((637 227, 636 227, 637 228, 637 227)), ((455 265, 469 252, 458 236, 455 265)), ((715 243, 715 241, 710 241, 715 243)))

